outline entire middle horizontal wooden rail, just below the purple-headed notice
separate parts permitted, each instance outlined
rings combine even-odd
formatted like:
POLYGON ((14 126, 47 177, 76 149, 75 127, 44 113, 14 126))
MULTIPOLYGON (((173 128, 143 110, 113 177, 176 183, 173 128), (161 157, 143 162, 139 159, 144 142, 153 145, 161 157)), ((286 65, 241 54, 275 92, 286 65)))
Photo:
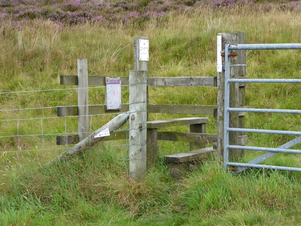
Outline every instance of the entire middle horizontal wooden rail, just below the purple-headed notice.
MULTIPOLYGON (((172 114, 196 114, 213 115, 216 105, 169 105, 169 104, 147 104, 149 113, 172 113, 172 114)), ((129 111, 129 105, 121 105, 121 110, 106 111, 105 105, 90 105, 89 115, 113 114, 129 111)), ((76 116, 78 115, 77 106, 57 107, 57 116, 76 116)))

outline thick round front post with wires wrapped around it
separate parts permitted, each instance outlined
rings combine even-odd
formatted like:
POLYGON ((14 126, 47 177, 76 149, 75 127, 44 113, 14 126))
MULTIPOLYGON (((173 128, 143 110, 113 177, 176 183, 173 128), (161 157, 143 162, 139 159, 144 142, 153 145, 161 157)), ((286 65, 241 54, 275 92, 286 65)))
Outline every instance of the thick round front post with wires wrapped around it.
POLYGON ((146 174, 146 77, 147 71, 129 75, 129 175, 135 181, 146 174))

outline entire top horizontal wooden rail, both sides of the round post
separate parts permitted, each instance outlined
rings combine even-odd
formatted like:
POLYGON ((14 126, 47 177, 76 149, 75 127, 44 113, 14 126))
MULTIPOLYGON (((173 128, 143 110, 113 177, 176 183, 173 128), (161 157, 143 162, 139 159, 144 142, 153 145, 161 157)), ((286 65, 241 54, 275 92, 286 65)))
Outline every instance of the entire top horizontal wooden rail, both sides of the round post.
MULTIPOLYGON (((77 85, 76 75, 61 75, 61 85, 77 85)), ((88 76, 90 86, 105 86, 105 76, 88 76)), ((129 77, 121 77, 129 85, 129 77)), ((147 86, 217 86, 217 77, 147 77, 147 86)))

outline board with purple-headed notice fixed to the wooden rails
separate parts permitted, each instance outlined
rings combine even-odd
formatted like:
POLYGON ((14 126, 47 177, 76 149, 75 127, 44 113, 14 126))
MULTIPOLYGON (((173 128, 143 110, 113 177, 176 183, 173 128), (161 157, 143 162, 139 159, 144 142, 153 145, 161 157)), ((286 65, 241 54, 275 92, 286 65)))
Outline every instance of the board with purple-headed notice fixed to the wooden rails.
POLYGON ((106 77, 106 110, 121 109, 121 78, 106 77))

